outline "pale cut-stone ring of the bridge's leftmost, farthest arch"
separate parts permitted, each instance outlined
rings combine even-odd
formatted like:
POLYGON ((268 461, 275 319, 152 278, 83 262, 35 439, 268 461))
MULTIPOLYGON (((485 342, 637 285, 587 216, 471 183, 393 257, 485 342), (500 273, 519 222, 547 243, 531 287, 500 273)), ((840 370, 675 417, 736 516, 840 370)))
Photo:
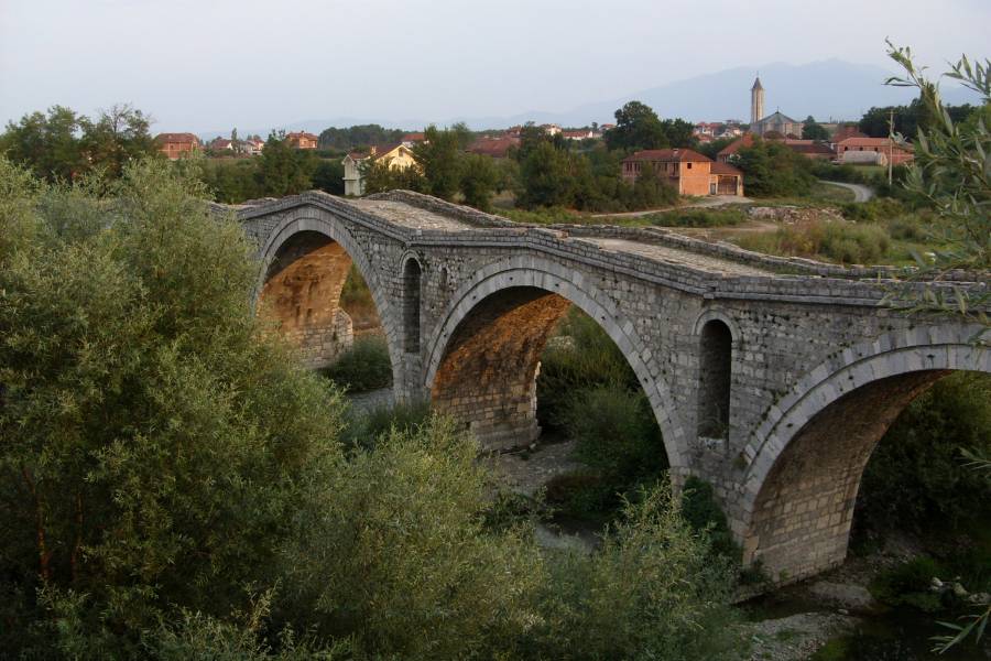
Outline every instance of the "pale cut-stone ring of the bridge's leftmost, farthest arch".
POLYGON ((261 268, 252 294, 252 304, 258 305, 265 286, 270 268, 284 246, 292 241, 294 237, 298 237, 306 232, 325 237, 339 246, 342 251, 347 253, 362 278, 364 278, 366 283, 371 291, 372 301, 374 302, 375 308, 382 321, 382 328, 385 333, 389 353, 390 356, 393 357, 393 383, 398 384, 401 378, 401 370, 395 357, 399 356, 398 349, 400 345, 393 306, 390 299, 383 293, 384 289, 380 282, 379 273, 372 268, 361 245, 348 230, 346 226, 347 223, 347 220, 328 213, 326 209, 312 206, 294 209, 294 213, 291 216, 283 218, 272 228, 268 234, 268 238, 259 248, 258 256, 261 268))

